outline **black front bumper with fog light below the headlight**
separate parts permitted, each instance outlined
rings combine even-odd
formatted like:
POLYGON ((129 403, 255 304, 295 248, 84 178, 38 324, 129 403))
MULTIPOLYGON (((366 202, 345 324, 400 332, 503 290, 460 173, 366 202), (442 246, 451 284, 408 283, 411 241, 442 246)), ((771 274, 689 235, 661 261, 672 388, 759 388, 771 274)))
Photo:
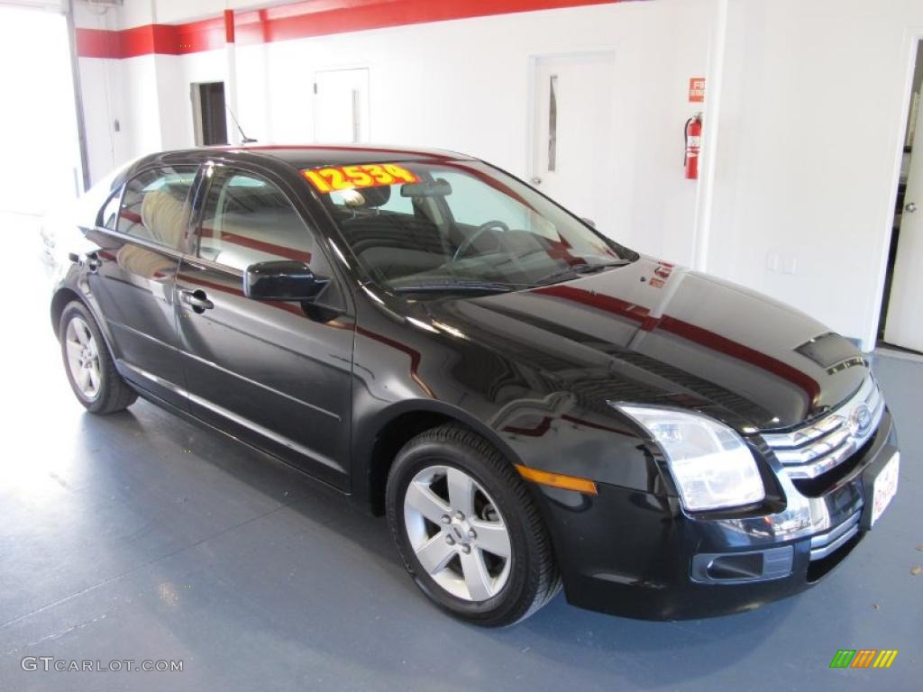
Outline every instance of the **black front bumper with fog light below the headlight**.
POLYGON ((785 507, 745 519, 697 518, 676 497, 605 483, 598 495, 576 499, 544 487, 541 504, 567 600, 604 613, 676 620, 748 611, 804 591, 863 539, 866 479, 894 451, 885 411, 826 492, 806 497, 786 479, 785 507))

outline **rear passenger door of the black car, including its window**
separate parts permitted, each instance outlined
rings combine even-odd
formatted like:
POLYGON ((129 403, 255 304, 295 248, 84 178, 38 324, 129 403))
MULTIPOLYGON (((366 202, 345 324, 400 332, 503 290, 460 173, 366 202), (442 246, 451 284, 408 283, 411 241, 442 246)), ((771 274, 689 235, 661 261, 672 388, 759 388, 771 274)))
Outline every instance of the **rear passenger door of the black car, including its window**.
POLYGON ((150 168, 103 206, 82 257, 90 299, 126 379, 186 409, 174 284, 191 217, 197 165, 150 168))

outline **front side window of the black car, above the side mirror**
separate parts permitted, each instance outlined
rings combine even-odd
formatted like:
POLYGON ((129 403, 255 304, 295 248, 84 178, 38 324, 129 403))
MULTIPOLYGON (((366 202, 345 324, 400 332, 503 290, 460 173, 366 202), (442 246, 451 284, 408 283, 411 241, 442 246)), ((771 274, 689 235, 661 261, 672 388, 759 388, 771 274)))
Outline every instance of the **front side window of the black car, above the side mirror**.
POLYGON ((288 197, 253 173, 221 170, 211 183, 199 231, 198 257, 244 271, 278 259, 306 262, 321 274, 323 255, 288 197))

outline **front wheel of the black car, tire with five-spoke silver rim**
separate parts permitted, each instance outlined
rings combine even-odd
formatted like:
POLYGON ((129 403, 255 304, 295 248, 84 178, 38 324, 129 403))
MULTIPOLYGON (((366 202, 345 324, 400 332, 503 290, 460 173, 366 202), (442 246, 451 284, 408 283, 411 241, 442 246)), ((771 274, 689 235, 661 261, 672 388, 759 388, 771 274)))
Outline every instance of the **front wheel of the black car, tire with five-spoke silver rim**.
POLYGON ((551 541, 525 483, 495 447, 462 425, 433 428, 402 448, 386 506, 407 570, 433 603, 459 619, 513 625, 560 591, 551 541))

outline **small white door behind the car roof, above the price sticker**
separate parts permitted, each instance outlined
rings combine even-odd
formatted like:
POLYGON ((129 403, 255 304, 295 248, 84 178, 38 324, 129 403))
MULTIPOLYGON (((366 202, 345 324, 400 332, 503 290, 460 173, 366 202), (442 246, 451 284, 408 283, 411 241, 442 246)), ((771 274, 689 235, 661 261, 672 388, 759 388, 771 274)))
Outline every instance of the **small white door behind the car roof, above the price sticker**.
POLYGON ((314 74, 314 140, 323 144, 368 141, 368 69, 314 74))

